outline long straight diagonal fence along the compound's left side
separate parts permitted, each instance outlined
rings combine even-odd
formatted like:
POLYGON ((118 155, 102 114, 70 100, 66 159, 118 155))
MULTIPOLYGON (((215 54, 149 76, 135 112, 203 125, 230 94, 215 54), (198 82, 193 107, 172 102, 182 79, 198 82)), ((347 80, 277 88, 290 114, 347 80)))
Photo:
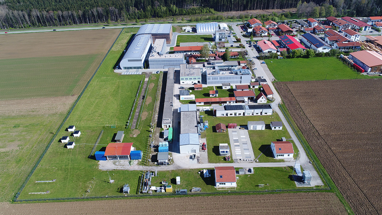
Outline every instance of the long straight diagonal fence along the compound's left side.
MULTIPOLYGON (((122 31, 124 30, 125 28, 122 28, 121 29, 121 32, 118 34, 118 37, 117 39, 120 37, 122 31)), ((65 119, 62 121, 62 123, 60 124, 60 127, 58 127, 56 133, 53 135, 52 139, 50 139, 50 142, 49 144, 47 145, 47 147, 45 147, 45 150, 44 152, 42 152, 42 154, 40 155, 40 158, 39 160, 37 160, 36 164, 34 165, 34 167, 32 168, 31 172, 29 173, 28 177, 25 179, 23 185, 21 185, 19 191, 16 193, 16 195, 13 197, 13 201, 17 201, 21 191, 23 191, 24 187, 26 186, 26 184, 28 183, 29 179, 31 178, 32 174, 34 173, 34 171, 36 170, 37 166, 40 164, 42 158, 44 157, 45 153, 48 151, 50 145, 52 145, 52 142, 54 141, 54 139, 57 137, 57 134, 58 132, 60 132, 62 126, 64 125, 64 123, 66 122, 66 120, 68 119, 68 117, 70 116, 70 113, 73 111, 74 107, 76 107, 76 104, 78 102, 78 100, 81 98, 81 96, 84 94, 87 86, 89 86, 90 82, 92 81, 93 77, 95 76, 95 73, 97 73, 97 71, 99 70, 100 66, 102 65, 102 63, 104 62, 105 58, 107 57, 107 55, 109 54, 110 50, 112 49, 112 47, 114 46, 115 42, 117 41, 117 39, 114 40, 113 42, 113 45, 109 48, 109 50, 107 51, 104 59, 102 59, 101 63, 98 65, 97 67, 97 70, 95 70, 95 72, 93 73, 93 75, 91 76, 91 78, 89 79, 89 81, 87 81, 83 91, 81 92, 81 94, 79 94, 77 100, 74 102, 73 106, 71 107, 71 109, 69 110, 68 114, 66 114, 65 116, 65 119)))

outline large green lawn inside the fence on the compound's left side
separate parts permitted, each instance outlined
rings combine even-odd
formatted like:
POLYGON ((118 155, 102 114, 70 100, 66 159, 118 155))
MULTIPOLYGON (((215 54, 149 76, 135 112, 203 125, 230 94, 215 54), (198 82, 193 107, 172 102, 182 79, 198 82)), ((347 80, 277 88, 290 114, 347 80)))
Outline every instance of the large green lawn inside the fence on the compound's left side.
MULTIPOLYGON (((123 36, 123 34, 130 35, 127 31, 121 35, 123 36)), ((125 44, 128 39, 129 37, 124 36, 118 38, 117 45, 125 44), (120 42, 121 39, 123 42, 120 42)), ((142 106, 144 109, 142 110, 139 129, 134 131, 125 129, 136 89, 143 76, 124 76, 113 73, 112 67, 120 57, 123 48, 120 50, 112 49, 109 52, 63 126, 66 128, 69 125, 75 125, 76 129, 81 130, 81 136, 75 139, 76 146, 74 149, 66 149, 63 143, 58 142, 60 137, 70 135, 70 132, 61 129, 19 196, 20 199, 119 195, 121 193, 117 188, 125 183, 129 183, 133 193, 135 192, 140 171, 109 171, 112 179, 115 179, 115 183, 109 184, 105 182, 108 181, 107 171, 99 170, 98 161, 87 158, 102 129, 104 129, 104 134, 99 141, 97 150, 106 147, 117 131, 125 131, 123 141, 133 142, 133 147, 136 147, 137 150, 146 147, 149 134, 147 128, 149 121, 151 121, 151 109, 154 103, 150 101, 149 97, 152 97, 156 91, 159 74, 152 75, 151 84, 148 86, 146 104, 142 106), (115 124, 117 128, 105 128, 106 124, 115 124), (56 179, 56 181, 54 183, 35 183, 38 180, 52 179, 56 179), (95 183, 89 183, 91 181, 95 183), (85 192, 89 186, 92 186, 91 192, 85 192), (45 196, 28 194, 29 192, 47 190, 50 193, 45 196)), ((73 140, 73 137, 71 138, 73 140)))

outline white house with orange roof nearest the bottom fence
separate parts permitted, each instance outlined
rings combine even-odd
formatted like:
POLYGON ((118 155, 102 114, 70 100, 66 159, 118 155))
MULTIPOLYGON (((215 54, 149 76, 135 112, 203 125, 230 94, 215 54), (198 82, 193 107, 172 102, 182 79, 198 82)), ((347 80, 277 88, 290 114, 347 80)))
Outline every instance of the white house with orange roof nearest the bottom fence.
POLYGON ((215 167, 215 186, 216 188, 236 187, 236 170, 234 167, 215 167))

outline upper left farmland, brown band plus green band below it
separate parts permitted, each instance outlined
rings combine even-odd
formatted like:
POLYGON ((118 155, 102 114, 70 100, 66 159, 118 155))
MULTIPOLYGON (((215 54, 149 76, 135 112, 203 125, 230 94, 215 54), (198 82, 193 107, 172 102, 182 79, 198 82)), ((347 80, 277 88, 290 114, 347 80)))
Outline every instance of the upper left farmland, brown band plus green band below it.
POLYGON ((79 94, 120 29, 0 37, 0 100, 79 94))

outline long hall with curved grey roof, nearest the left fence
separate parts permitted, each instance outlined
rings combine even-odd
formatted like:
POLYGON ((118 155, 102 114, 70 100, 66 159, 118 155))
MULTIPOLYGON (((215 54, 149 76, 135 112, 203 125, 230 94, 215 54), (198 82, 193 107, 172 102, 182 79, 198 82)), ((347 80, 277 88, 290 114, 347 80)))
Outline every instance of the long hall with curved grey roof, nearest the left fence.
POLYGON ((152 45, 150 34, 141 34, 134 38, 120 62, 123 70, 138 70, 144 68, 144 61, 152 45))

